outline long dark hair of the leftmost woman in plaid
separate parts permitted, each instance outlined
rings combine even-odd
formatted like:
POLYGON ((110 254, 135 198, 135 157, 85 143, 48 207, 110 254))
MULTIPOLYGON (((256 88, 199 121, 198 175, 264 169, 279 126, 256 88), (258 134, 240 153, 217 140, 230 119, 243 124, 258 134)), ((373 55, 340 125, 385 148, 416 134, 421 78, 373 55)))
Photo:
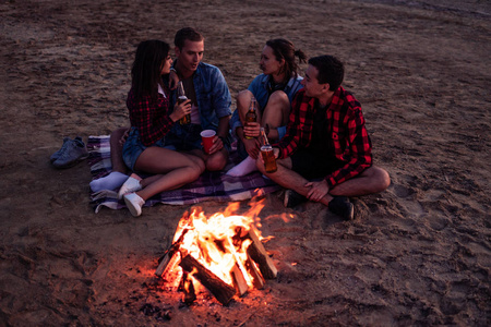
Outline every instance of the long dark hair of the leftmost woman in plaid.
POLYGON ((169 56, 170 46, 158 39, 140 43, 131 69, 131 86, 136 98, 149 95, 157 99, 161 68, 169 56))

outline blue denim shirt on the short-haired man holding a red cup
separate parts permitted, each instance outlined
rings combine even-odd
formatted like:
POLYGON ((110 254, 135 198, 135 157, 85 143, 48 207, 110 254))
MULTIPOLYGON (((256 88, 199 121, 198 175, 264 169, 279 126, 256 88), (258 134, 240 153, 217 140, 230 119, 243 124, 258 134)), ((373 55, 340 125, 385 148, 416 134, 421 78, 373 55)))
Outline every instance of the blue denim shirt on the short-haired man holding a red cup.
MULTIPOLYGON (((227 82, 217 66, 200 62, 193 74, 193 85, 200 110, 201 126, 203 130, 216 131, 219 119, 231 114, 231 97, 227 82)), ((176 93, 173 90, 170 96, 170 110, 173 110, 176 104, 176 93)))

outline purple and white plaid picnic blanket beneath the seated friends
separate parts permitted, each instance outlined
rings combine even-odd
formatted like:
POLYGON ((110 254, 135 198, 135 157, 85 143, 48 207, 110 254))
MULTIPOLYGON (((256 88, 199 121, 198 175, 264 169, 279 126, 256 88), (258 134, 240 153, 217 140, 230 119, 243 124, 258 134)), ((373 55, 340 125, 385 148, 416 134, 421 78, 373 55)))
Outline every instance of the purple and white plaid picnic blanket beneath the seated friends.
MULTIPOLYGON (((89 136, 87 141, 89 156, 87 162, 94 179, 111 172, 109 135, 89 136)), ((225 174, 228 169, 239 162, 237 152, 230 152, 230 159, 223 171, 205 171, 196 181, 178 190, 166 191, 148 198, 144 206, 157 203, 169 205, 190 205, 204 201, 235 202, 261 196, 279 190, 272 180, 263 177, 259 171, 244 177, 225 174)), ((111 209, 125 208, 124 201, 118 201, 118 190, 103 190, 91 194, 92 204, 96 213, 101 207, 111 209)))

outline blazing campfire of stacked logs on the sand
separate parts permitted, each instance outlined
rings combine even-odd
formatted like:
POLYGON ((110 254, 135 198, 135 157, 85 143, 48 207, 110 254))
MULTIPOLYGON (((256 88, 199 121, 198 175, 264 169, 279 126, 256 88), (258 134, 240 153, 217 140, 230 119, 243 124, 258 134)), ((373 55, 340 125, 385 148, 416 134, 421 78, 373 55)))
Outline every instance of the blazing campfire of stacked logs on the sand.
POLYGON ((265 279, 276 278, 276 267, 267 255, 256 203, 244 216, 233 215, 239 205, 206 217, 201 208, 185 213, 172 244, 160 258, 155 275, 178 282, 184 302, 196 300, 196 288, 205 287, 223 305, 250 289, 263 289, 265 279))

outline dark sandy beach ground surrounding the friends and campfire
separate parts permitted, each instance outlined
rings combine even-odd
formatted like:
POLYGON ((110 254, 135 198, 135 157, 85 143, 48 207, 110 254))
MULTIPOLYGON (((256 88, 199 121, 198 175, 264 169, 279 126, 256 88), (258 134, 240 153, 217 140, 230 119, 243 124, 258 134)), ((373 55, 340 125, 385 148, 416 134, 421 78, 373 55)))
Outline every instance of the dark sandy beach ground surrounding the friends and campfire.
POLYGON ((488 1, 10 0, 0 17, 0 326, 491 325, 488 1), (191 206, 95 214, 88 165, 49 161, 65 136, 128 125, 136 45, 184 26, 232 96, 270 38, 338 57, 392 179, 352 198, 354 221, 265 196, 278 277, 228 306, 183 305, 154 276, 191 206))

